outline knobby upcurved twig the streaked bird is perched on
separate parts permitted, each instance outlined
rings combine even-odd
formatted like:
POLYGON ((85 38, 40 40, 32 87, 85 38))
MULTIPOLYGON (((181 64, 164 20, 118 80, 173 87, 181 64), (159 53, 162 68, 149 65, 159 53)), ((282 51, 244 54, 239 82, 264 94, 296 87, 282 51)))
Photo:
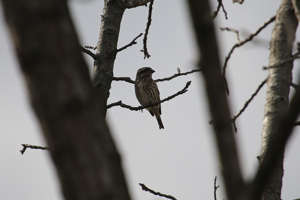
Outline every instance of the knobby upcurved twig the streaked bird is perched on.
POLYGON ((185 85, 185 87, 184 87, 181 91, 177 92, 176 94, 173 94, 172 96, 167 97, 167 98, 165 98, 165 99, 163 99, 163 100, 157 101, 157 102, 155 102, 155 103, 149 103, 149 104, 146 105, 146 106, 131 107, 131 106, 128 106, 128 105, 122 103, 122 101, 118 101, 118 102, 116 102, 116 103, 111 103, 111 104, 107 105, 106 108, 109 109, 109 108, 111 108, 111 107, 113 107, 113 106, 121 106, 122 108, 127 108, 127 109, 135 110, 135 111, 143 110, 143 109, 145 109, 145 108, 149 108, 149 107, 152 107, 152 106, 156 106, 156 105, 158 105, 159 103, 163 103, 163 102, 165 102, 165 101, 171 100, 171 99, 173 99, 174 97, 176 97, 176 96, 178 96, 178 95, 180 95, 180 94, 184 94, 185 92, 187 92, 187 88, 190 86, 190 83, 191 83, 191 81, 187 82, 187 84, 185 85))

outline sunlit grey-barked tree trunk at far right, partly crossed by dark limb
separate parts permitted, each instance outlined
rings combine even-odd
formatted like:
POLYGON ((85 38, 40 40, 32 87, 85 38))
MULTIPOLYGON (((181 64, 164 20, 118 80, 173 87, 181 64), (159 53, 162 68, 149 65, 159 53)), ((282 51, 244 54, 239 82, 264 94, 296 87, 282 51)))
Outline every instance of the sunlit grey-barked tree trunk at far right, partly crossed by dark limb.
MULTIPOLYGON (((292 55, 292 46, 295 40, 297 25, 298 21, 295 17, 291 0, 283 0, 277 11, 272 31, 269 66, 283 61, 292 55)), ((292 68, 293 62, 288 62, 280 67, 269 69, 259 163, 263 161, 270 138, 277 131, 278 122, 288 107, 292 68)), ((265 187, 262 195, 263 200, 281 199, 283 157, 284 152, 281 153, 273 175, 265 187)))

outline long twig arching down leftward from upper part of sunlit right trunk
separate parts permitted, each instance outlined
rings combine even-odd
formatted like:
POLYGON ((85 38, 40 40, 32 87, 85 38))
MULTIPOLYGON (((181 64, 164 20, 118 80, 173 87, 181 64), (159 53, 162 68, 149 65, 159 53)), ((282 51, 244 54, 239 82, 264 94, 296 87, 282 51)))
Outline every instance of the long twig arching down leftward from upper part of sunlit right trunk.
POLYGON ((225 58, 224 61, 224 65, 223 65, 223 78, 224 78, 224 83, 225 83, 225 88, 226 88, 226 92, 229 95, 229 89, 228 89, 228 84, 227 84, 227 80, 225 77, 226 74, 226 67, 227 67, 227 62, 233 52, 233 50, 236 47, 242 46, 243 44, 251 41, 253 39, 253 37, 255 37, 257 34, 259 34, 260 31, 262 31, 262 29, 264 29, 267 25, 269 25, 271 22, 273 22, 275 20, 275 16, 271 17, 270 19, 268 19, 268 21, 266 21, 264 24, 262 24, 255 32, 251 33, 248 37, 246 37, 244 40, 241 40, 237 43, 235 43, 235 45, 232 46, 232 48, 230 49, 228 55, 225 58))

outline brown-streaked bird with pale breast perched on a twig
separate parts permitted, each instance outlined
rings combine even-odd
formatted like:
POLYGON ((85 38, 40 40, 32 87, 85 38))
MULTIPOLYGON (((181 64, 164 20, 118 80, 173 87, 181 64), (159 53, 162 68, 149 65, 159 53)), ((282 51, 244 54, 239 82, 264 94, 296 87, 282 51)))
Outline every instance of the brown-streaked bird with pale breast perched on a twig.
MULTIPOLYGON (((135 78, 134 89, 137 100, 142 106, 149 103, 160 101, 158 87, 156 82, 152 79, 152 73, 155 71, 150 67, 143 67, 137 70, 137 77, 135 78)), ((159 129, 164 129, 161 121, 161 104, 146 108, 152 116, 155 115, 159 129)))

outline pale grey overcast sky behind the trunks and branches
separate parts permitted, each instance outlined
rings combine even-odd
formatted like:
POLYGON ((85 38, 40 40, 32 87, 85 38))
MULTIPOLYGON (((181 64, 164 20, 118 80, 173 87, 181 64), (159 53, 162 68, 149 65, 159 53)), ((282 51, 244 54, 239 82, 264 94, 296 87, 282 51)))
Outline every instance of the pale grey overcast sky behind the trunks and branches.
MULTIPOLYGON (((215 10, 217 0, 211 1, 211 4, 212 10, 215 10)), ((236 41, 233 33, 222 32, 219 27, 237 28, 243 39, 274 16, 279 4, 279 0, 246 0, 242 5, 224 1, 228 20, 225 20, 223 12, 214 20, 222 63, 236 41)), ((69 5, 82 46, 95 46, 103 1, 75 0, 69 1, 69 5)), ((118 48, 144 33, 147 16, 148 7, 144 6, 125 11, 118 48)), ((46 142, 29 104, 27 88, 2 9, 0 18, 0 199, 63 199, 49 152, 32 149, 27 149, 24 155, 19 152, 23 143, 46 146, 46 142)), ((262 70, 262 66, 268 65, 268 43, 272 27, 273 23, 255 37, 255 43, 247 43, 235 49, 229 60, 227 80, 232 116, 243 107, 268 74, 262 70)), ((181 72, 196 68, 197 47, 185 1, 154 1, 147 43, 151 57, 146 60, 140 52, 143 48, 142 37, 137 39, 136 45, 117 54, 115 76, 135 79, 139 68, 152 67, 156 71, 153 78, 158 79, 177 73, 177 67, 181 72)), ((85 58, 92 73, 93 60, 87 55, 85 58)), ((299 67, 300 63, 296 61, 296 76, 299 67)), ((220 185, 217 199, 226 199, 214 135, 208 124, 210 115, 201 73, 159 82, 161 99, 181 90, 189 80, 192 83, 187 93, 162 104, 164 130, 159 130, 156 119, 148 112, 130 111, 121 107, 113 107, 107 112, 107 123, 122 156, 128 187, 134 200, 164 199, 142 191, 139 183, 178 200, 213 200, 215 176, 220 185)), ((294 91, 293 88, 291 91, 294 91)), ((256 156, 260 153, 265 95, 266 85, 237 120, 238 133, 235 136, 246 179, 253 177, 258 166, 256 156)), ((121 81, 112 83, 108 103, 119 100, 131 106, 139 106, 133 84, 121 81)), ((283 200, 300 198, 299 131, 298 127, 295 128, 295 134, 286 149, 283 200)))

